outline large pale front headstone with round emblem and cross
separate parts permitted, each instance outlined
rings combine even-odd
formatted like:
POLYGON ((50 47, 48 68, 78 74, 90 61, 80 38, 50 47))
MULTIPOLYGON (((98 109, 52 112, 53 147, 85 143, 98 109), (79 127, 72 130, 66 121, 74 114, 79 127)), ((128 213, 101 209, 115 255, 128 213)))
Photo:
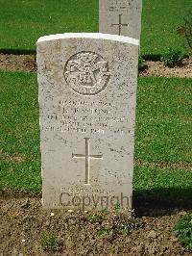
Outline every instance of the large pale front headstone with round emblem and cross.
POLYGON ((132 209, 138 40, 39 38, 43 205, 132 209))

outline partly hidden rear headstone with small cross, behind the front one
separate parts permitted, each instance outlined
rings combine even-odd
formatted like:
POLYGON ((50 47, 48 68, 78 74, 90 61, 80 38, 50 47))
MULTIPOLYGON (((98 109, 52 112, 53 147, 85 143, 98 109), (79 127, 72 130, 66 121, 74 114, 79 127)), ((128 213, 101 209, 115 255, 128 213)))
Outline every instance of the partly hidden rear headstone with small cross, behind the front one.
POLYGON ((142 0, 100 0, 100 33, 140 39, 142 0))

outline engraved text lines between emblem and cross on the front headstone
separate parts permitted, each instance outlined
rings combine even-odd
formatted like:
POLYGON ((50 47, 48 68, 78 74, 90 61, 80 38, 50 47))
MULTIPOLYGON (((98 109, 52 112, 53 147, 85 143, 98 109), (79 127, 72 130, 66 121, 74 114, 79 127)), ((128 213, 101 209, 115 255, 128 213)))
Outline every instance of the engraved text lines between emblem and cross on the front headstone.
POLYGON ((125 129, 124 123, 129 122, 127 115, 113 115, 114 102, 87 101, 87 100, 60 100, 56 103, 56 112, 50 112, 41 118, 46 120, 44 132, 60 133, 88 133, 100 134, 115 133, 120 136, 130 134, 132 131, 125 129))

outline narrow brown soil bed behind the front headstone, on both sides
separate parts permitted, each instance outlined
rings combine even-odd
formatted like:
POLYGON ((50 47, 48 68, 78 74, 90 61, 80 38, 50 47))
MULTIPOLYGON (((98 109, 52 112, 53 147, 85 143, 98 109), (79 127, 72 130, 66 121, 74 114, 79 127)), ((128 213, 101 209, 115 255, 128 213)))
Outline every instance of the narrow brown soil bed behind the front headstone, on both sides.
MULTIPOLYGON (((185 59, 181 66, 169 68, 161 62, 146 61, 148 68, 140 76, 192 78, 192 58, 185 59)), ((14 71, 36 71, 36 55, 0 54, 0 69, 14 71)))

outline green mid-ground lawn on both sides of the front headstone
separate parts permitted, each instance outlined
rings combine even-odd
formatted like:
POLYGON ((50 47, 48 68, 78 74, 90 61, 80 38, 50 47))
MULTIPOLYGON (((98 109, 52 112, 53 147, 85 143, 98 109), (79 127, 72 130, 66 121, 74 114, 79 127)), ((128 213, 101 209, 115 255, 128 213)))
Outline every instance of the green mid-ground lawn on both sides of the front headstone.
MULTIPOLYGON (((36 73, 0 71, 1 189, 40 191, 36 73)), ((140 78, 134 190, 192 197, 190 79, 140 78)))

